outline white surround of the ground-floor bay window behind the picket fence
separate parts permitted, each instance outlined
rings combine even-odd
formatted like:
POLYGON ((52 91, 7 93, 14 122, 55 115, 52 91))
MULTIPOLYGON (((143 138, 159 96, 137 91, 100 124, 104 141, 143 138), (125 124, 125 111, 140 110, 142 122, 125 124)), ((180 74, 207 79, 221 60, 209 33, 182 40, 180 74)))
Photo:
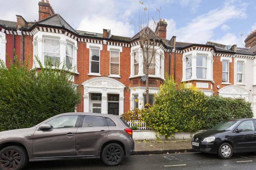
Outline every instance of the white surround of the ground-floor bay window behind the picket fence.
MULTIPOLYGON (((146 87, 131 87, 130 88, 130 110, 134 109, 134 95, 138 95, 139 109, 142 109, 144 104, 143 94, 145 94, 146 87)), ((157 94, 159 87, 149 87, 149 94, 157 94)))

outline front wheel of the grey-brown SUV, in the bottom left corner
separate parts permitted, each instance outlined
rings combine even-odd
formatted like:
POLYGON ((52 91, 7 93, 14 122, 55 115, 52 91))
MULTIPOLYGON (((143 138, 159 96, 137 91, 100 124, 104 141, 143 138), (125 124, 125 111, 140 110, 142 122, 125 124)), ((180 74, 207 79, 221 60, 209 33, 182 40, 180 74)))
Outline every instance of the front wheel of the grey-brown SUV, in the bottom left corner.
POLYGON ((27 161, 27 153, 20 146, 8 146, 0 151, 1 170, 21 170, 27 161))

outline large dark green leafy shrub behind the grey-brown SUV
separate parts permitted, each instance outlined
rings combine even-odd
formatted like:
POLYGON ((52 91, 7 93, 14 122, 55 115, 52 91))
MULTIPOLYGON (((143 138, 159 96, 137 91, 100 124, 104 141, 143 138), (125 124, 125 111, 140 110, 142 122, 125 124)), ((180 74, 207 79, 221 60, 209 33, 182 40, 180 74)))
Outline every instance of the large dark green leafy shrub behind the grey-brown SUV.
MULTIPOLYGON (((41 71, 17 61, 8 69, 0 63, 0 131, 32 127, 54 115, 74 112, 80 92, 69 80, 74 75, 47 62, 41 71)), ((65 65, 65 64, 63 64, 65 65)))

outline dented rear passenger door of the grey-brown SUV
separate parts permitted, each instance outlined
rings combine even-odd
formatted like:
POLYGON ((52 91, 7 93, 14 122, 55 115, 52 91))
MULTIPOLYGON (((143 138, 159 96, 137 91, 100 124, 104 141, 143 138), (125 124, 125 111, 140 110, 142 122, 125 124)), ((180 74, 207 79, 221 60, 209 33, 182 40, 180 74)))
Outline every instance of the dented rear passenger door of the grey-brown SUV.
POLYGON ((76 131, 76 155, 98 155, 101 144, 107 139, 108 126, 104 116, 84 115, 76 131))

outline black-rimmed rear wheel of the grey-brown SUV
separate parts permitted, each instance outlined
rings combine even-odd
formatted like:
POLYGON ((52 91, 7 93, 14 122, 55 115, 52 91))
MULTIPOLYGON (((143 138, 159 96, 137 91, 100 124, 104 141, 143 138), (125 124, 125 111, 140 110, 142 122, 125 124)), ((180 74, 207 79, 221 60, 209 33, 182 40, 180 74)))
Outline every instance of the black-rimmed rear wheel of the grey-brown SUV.
POLYGON ((110 143, 103 149, 101 157, 106 165, 116 166, 122 162, 124 151, 117 143, 110 143))

